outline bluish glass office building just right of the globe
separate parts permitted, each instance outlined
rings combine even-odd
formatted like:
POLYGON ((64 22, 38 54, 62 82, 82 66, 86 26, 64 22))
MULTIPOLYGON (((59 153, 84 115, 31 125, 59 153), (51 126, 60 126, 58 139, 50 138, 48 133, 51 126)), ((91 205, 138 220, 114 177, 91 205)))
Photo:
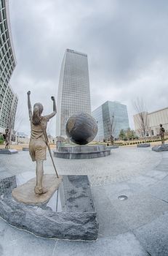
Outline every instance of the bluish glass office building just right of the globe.
POLYGON ((119 102, 107 101, 92 112, 97 121, 98 132, 95 140, 119 138, 121 129, 129 128, 127 106, 119 102))

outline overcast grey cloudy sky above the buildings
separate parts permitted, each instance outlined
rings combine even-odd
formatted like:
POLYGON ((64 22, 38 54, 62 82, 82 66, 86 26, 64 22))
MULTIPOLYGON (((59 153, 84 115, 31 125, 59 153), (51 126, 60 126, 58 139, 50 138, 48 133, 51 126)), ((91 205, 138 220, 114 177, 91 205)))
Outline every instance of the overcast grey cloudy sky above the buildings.
MULTIPOLYGON (((167 0, 9 0, 19 97, 16 129, 30 133, 27 94, 52 111, 66 48, 87 53, 92 110, 143 97, 148 112, 168 107, 167 0), (20 117, 22 116, 22 117, 20 117)), ((55 135, 55 118, 48 127, 55 135)))

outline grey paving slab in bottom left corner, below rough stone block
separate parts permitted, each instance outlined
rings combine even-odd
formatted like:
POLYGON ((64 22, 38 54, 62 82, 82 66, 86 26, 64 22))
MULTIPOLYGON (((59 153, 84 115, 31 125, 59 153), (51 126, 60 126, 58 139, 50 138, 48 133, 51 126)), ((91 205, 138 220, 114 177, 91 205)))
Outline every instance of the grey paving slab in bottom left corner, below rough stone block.
POLYGON ((51 256, 56 241, 33 236, 11 227, 0 218, 1 256, 51 256))

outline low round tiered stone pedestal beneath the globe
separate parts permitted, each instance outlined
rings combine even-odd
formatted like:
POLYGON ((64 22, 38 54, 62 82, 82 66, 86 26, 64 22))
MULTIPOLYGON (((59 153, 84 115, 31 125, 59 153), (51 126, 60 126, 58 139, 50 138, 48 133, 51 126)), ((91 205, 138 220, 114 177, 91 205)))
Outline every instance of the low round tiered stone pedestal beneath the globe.
POLYGON ((111 148, 106 148, 105 145, 59 147, 54 151, 54 157, 65 159, 91 159, 107 157, 110 154, 111 148))

